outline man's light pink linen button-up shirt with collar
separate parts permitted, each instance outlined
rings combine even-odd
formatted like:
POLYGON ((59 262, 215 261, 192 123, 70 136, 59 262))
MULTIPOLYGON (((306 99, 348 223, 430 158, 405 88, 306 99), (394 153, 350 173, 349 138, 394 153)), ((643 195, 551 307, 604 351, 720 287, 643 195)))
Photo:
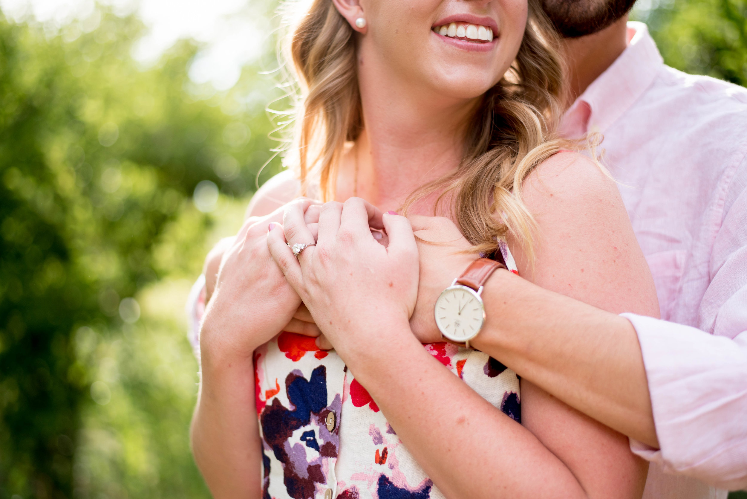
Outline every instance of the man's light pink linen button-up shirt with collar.
POLYGON ((666 66, 640 22, 628 40, 561 131, 604 135, 656 283, 662 320, 623 314, 661 447, 630 441, 644 498, 725 498, 747 487, 747 90, 666 66))

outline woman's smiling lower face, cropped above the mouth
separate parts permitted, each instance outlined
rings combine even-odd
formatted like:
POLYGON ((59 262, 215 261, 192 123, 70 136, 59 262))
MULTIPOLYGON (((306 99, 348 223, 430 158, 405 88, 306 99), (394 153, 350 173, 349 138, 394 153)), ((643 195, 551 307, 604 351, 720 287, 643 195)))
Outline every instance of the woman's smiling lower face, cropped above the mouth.
POLYGON ((377 69, 456 99, 473 99, 498 83, 527 24, 527 0, 361 0, 360 5, 367 21, 359 53, 363 64, 373 51, 377 69))

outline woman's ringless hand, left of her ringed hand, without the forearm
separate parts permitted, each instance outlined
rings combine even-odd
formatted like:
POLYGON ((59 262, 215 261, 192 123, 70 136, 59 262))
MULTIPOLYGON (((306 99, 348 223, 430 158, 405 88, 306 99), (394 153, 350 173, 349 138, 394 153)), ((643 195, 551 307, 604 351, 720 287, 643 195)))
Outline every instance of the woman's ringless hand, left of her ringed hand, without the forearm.
MULTIPOLYGON (((303 212, 310 204, 309 199, 298 199, 286 207, 303 212)), ((249 217, 226 249, 202 323, 203 357, 252 359, 258 346, 283 329, 319 334, 305 321, 311 318, 308 311, 267 249, 268 227, 279 226, 286 207, 267 217, 249 217)))

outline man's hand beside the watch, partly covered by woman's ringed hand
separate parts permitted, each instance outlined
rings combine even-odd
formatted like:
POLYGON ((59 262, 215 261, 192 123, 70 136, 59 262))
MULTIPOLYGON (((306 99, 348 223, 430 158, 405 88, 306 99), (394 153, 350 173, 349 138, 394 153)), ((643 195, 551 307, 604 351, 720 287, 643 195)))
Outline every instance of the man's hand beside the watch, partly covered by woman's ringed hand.
POLYGON ((411 215, 409 219, 420 254, 418 302, 410 327, 421 343, 443 341, 433 317, 436 299, 477 255, 469 252, 472 245, 448 218, 411 215))

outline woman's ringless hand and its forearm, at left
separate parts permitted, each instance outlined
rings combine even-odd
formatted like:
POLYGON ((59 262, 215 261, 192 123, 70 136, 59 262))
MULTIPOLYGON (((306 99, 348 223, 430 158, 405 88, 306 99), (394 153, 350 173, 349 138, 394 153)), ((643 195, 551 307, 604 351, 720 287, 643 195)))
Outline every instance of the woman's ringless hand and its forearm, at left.
MULTIPOLYGON (((310 204, 309 199, 290 203, 302 212, 310 204)), ((267 249, 268 226, 279 225, 283 211, 244 222, 220 258, 202 322, 202 379, 191 440, 195 462, 217 499, 261 496, 252 356, 301 305, 267 249)))

